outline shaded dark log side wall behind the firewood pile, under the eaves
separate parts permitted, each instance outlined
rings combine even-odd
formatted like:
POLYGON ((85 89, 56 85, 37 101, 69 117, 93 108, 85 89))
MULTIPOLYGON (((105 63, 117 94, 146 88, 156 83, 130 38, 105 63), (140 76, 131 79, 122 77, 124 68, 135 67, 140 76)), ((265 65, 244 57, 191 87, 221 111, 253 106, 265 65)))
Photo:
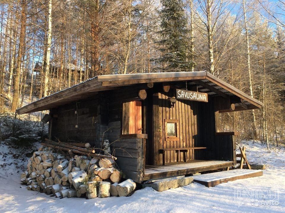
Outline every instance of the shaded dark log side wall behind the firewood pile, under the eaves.
POLYGON ((107 126, 107 109, 107 98, 103 93, 50 109, 52 140, 88 142, 99 147, 101 125, 107 126))

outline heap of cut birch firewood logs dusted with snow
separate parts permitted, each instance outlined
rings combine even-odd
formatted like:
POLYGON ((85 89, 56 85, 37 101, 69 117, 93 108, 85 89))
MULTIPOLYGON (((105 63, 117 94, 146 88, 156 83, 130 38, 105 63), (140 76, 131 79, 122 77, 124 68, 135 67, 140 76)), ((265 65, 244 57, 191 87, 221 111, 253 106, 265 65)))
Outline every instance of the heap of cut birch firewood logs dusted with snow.
POLYGON ((21 174, 21 182, 28 185, 28 190, 61 198, 92 199, 128 196, 136 188, 131 179, 121 182, 116 157, 107 152, 96 154, 88 143, 46 141, 21 174))

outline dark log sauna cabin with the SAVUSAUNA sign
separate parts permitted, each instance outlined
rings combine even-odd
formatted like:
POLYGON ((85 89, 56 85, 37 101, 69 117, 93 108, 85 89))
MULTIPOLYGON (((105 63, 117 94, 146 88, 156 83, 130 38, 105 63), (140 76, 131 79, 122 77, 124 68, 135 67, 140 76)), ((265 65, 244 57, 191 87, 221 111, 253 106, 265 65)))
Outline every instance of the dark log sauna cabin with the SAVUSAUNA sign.
POLYGON ((219 132, 219 113, 262 103, 208 72, 101 75, 17 109, 49 110, 49 138, 108 139, 116 163, 137 183, 236 164, 237 132, 219 132))

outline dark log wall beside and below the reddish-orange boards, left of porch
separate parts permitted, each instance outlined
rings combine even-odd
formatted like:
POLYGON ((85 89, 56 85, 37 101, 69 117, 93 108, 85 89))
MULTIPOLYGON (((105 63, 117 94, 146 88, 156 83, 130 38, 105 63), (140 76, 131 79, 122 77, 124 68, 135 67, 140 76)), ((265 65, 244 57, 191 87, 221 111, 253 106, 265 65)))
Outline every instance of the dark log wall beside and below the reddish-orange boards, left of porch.
POLYGON ((108 91, 109 122, 108 139, 111 152, 117 157, 116 163, 126 178, 141 183, 143 180, 143 140, 142 138, 121 138, 123 102, 137 99, 138 89, 126 86, 122 90, 108 91))

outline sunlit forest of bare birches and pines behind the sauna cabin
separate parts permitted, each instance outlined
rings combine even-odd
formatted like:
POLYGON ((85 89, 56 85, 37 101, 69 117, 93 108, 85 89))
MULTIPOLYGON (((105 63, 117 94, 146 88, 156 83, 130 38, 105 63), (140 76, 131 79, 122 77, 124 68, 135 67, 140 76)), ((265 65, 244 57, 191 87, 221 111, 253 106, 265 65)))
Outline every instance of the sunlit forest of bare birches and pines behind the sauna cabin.
POLYGON ((0 114, 96 75, 203 71, 264 103, 221 131, 285 143, 285 2, 1 1, 0 114))

